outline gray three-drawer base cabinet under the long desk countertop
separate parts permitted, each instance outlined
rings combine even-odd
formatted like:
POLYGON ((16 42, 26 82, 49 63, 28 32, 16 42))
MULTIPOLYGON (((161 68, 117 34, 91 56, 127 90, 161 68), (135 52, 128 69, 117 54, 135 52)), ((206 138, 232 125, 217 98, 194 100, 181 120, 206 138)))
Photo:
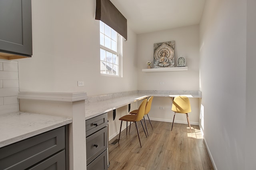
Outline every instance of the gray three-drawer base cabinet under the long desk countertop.
POLYGON ((108 115, 86 120, 87 170, 108 169, 108 115))

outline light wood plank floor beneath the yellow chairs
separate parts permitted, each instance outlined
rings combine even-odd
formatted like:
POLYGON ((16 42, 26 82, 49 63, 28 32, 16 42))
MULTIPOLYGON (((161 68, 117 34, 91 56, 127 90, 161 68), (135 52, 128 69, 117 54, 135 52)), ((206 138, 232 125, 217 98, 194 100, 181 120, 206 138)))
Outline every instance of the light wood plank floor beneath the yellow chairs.
POLYGON ((148 138, 138 122, 142 148, 135 124, 127 136, 121 132, 119 144, 111 145, 118 135, 110 140, 108 170, 214 170, 199 126, 190 133, 187 124, 174 123, 171 131, 170 122, 151 121, 154 129, 146 122, 148 138))

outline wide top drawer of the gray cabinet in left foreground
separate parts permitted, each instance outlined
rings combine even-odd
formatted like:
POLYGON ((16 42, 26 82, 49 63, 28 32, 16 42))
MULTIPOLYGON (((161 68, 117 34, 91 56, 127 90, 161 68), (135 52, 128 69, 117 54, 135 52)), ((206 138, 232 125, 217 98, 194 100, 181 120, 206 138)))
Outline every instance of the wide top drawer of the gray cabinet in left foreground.
POLYGON ((0 169, 24 170, 65 148, 65 127, 0 148, 0 169))

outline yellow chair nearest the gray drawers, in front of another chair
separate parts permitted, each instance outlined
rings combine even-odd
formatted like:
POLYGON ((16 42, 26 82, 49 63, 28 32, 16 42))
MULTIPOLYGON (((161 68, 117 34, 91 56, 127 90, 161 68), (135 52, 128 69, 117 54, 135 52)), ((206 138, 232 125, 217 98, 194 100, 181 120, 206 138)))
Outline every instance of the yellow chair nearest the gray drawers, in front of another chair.
MULTIPOLYGON (((122 116, 121 118, 119 118, 119 120, 121 120, 121 125, 120 125, 118 143, 119 143, 119 140, 120 140, 120 134, 121 134, 122 122, 123 121, 126 121, 126 135, 127 135, 127 124, 128 124, 128 122, 135 122, 135 126, 136 126, 137 133, 138 133, 138 138, 139 138, 139 141, 140 141, 140 134, 139 134, 137 122, 140 121, 141 124, 142 124, 141 120, 142 120, 142 118, 144 116, 144 113, 145 113, 146 103, 147 103, 147 99, 144 99, 142 101, 142 103, 140 104, 140 107, 138 108, 138 114, 136 114, 136 115, 128 114, 128 115, 125 115, 125 116, 122 116)), ((146 135, 146 131, 144 129, 143 124, 142 124, 142 128, 143 128, 143 130, 145 132, 145 135, 146 135)), ((146 135, 146 137, 147 137, 147 135, 146 135)), ((141 147, 141 142, 140 142, 140 147, 141 147)))

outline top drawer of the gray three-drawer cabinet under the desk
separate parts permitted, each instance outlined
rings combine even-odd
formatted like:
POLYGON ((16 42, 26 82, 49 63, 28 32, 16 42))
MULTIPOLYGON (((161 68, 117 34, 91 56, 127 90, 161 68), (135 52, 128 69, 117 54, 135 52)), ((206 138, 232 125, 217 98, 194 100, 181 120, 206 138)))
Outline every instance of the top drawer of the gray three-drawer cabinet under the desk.
POLYGON ((85 125, 86 136, 89 136, 108 125, 108 114, 104 113, 94 118, 90 118, 85 121, 85 125))

